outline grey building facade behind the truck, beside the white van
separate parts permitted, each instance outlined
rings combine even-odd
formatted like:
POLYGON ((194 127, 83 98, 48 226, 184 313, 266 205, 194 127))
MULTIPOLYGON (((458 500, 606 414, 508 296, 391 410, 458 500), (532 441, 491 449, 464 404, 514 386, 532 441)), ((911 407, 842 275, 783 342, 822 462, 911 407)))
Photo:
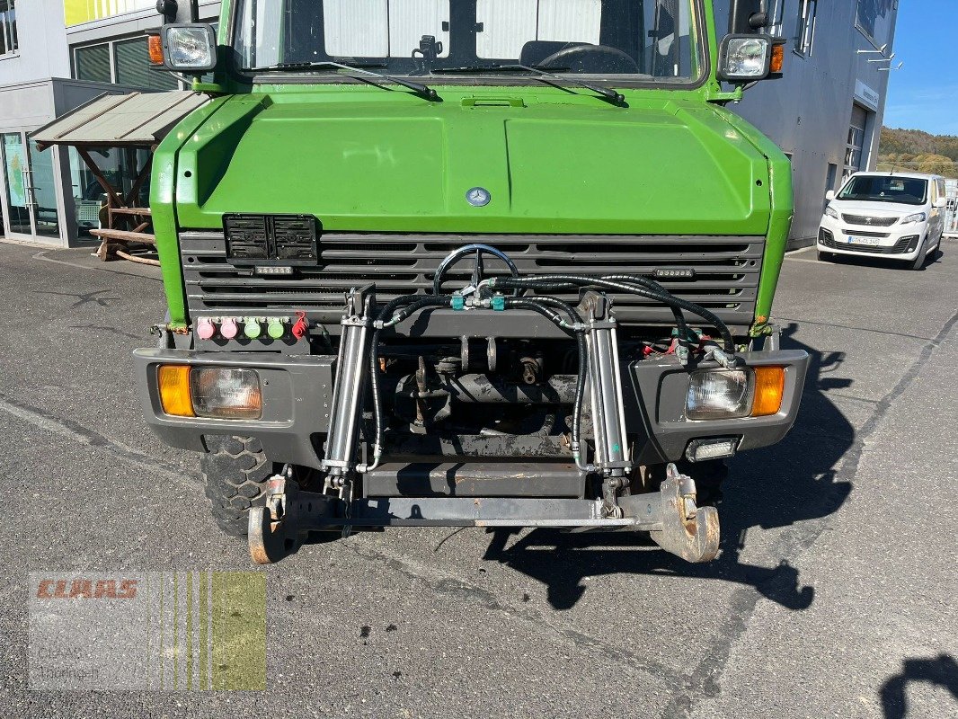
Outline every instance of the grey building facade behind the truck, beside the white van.
MULTIPOLYGON (((719 28, 729 0, 715 0, 719 28)), ((787 39, 784 77, 730 105, 791 158, 795 217, 789 245, 814 242, 825 193, 874 170, 898 0, 764 0, 772 35, 787 39)))

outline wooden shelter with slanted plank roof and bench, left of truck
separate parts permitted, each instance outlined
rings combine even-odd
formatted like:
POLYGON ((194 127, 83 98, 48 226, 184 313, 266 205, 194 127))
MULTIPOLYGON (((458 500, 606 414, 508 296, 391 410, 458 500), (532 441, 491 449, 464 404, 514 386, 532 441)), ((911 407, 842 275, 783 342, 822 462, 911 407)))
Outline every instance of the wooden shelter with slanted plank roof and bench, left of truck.
POLYGON ((156 244, 155 236, 148 232, 149 207, 139 205, 140 191, 149 177, 153 152, 160 140, 183 117, 206 102, 207 98, 189 91, 104 94, 31 133, 41 151, 54 145, 75 148, 103 187, 105 226, 90 230, 90 234, 101 241, 97 249, 101 260, 122 257, 159 265, 157 260, 133 253, 137 246, 156 244), (124 192, 122 186, 116 187, 91 156, 90 151, 97 148, 148 151, 143 167, 135 169, 128 191, 124 192))

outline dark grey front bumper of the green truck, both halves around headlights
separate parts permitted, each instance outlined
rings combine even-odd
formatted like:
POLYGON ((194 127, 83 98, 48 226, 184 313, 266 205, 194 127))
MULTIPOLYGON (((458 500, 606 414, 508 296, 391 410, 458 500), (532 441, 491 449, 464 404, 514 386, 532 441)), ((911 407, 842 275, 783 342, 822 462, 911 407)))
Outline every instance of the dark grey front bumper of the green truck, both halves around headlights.
MULTIPOLYGON (((785 393, 778 413, 733 420, 690 421, 684 416, 688 369, 672 357, 632 361, 624 366, 627 433, 635 464, 678 461, 696 439, 739 438, 738 451, 779 442, 798 413, 809 356, 801 350, 741 353, 749 366, 785 367, 785 393)), ((254 436, 276 462, 319 468, 317 448, 329 430, 333 372, 331 355, 141 349, 134 353, 137 381, 148 425, 172 447, 205 452, 208 435, 254 436), (160 364, 253 368, 262 380, 262 419, 217 420, 165 414, 157 388, 160 364)), ((696 368, 717 367, 703 362, 696 368)))

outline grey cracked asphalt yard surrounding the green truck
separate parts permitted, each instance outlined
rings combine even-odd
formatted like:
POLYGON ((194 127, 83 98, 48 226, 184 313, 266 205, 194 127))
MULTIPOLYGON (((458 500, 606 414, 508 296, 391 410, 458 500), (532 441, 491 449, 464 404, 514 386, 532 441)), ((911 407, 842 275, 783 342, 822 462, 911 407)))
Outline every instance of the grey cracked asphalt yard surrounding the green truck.
POLYGON ((796 426, 732 462, 719 559, 626 535, 393 529, 266 578, 266 690, 41 692, 28 573, 249 569, 141 418, 158 270, 0 243, 0 707, 33 716, 958 715, 958 243, 788 256, 796 426))

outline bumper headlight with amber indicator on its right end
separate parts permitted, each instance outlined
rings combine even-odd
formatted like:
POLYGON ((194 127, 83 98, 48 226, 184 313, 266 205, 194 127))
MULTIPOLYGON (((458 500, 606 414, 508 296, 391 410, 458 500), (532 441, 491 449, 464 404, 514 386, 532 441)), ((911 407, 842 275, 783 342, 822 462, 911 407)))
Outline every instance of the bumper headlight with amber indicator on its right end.
POLYGON ((785 368, 703 369, 689 378, 685 416, 740 419, 777 414, 785 398, 785 368))

